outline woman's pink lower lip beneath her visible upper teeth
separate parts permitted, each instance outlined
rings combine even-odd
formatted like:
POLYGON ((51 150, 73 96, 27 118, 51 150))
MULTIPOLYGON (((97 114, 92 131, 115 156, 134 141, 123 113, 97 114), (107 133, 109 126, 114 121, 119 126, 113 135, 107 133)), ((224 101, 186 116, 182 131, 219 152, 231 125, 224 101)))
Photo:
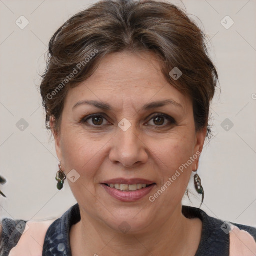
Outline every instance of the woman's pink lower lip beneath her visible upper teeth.
POLYGON ((101 184, 104 189, 114 198, 122 201, 122 202, 134 202, 142 197, 146 196, 152 188, 155 186, 155 184, 137 189, 136 191, 121 191, 116 188, 109 187, 107 185, 101 184))

